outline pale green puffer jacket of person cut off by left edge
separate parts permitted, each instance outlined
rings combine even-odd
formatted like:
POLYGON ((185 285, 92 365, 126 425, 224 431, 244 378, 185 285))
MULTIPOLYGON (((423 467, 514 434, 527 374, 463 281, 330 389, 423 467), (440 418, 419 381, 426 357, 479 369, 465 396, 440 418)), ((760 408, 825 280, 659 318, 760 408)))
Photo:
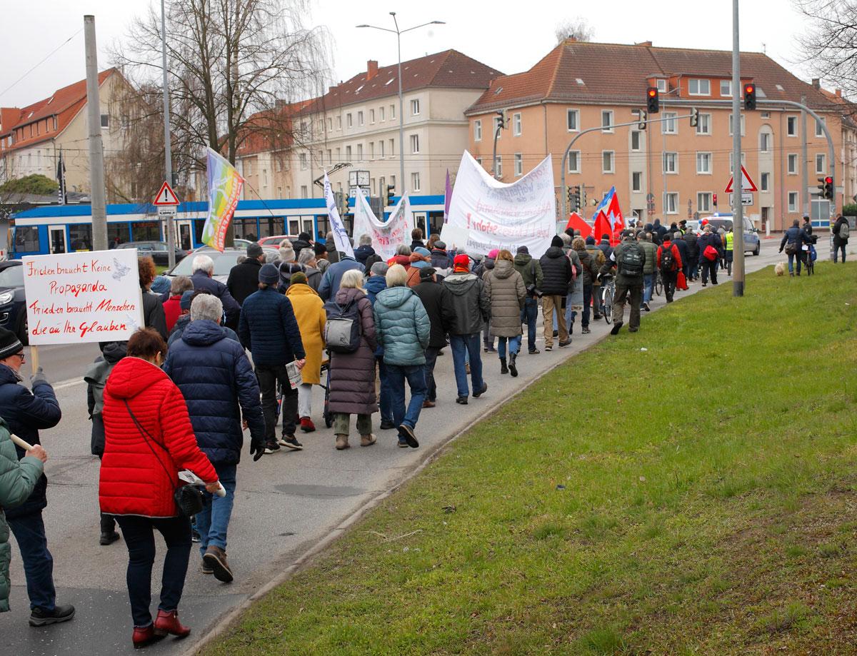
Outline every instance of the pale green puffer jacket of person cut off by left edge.
POLYGON ((18 460, 9 428, 0 419, 0 612, 9 611, 9 562, 12 559, 9 524, 3 508, 15 508, 27 501, 43 468, 39 458, 18 460))

